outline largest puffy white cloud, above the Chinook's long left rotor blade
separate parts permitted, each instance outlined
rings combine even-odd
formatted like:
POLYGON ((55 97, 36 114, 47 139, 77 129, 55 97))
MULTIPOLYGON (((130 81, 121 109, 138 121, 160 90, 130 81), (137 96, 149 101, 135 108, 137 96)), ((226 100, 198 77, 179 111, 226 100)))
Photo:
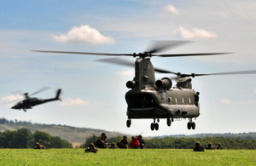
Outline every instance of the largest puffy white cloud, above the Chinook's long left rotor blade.
POLYGON ((55 41, 60 43, 80 43, 80 44, 113 44, 112 37, 103 36, 100 31, 90 26, 73 26, 67 34, 60 36, 52 35, 55 41))

